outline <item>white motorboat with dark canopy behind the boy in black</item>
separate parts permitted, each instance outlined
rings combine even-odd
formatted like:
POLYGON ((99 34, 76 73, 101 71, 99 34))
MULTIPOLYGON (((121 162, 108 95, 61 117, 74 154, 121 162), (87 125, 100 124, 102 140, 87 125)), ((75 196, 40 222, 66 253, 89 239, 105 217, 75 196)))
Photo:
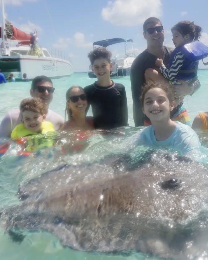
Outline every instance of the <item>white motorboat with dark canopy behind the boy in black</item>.
MULTIPOLYGON (((133 47, 133 40, 124 40, 122 38, 112 38, 112 39, 106 39, 101 40, 93 43, 93 49, 95 49, 97 46, 102 47, 108 47, 112 44, 116 43, 124 43, 124 54, 116 54, 114 58, 111 59, 111 62, 113 64, 112 70, 111 70, 111 76, 112 77, 118 77, 118 76, 128 76, 130 75, 131 65, 136 58, 136 55, 134 53, 134 47, 133 47), (127 43, 132 43, 131 51, 127 48, 127 43)), ((92 71, 92 66, 89 66, 88 69, 88 76, 89 78, 96 78, 95 74, 92 71)))

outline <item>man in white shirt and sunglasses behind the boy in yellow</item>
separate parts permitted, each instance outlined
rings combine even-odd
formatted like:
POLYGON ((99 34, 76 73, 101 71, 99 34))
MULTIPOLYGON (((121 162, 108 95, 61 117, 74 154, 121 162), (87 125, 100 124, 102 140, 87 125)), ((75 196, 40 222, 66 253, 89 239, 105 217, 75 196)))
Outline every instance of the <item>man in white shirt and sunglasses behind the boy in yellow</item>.
MULTIPOLYGON (((32 81, 30 95, 41 99, 44 105, 46 120, 53 124, 55 130, 59 130, 64 123, 64 119, 57 113, 49 110, 54 90, 55 88, 53 87, 50 78, 46 76, 37 76, 32 81)), ((0 137, 10 137, 12 130, 20 123, 21 114, 19 109, 8 112, 0 124, 0 137)))

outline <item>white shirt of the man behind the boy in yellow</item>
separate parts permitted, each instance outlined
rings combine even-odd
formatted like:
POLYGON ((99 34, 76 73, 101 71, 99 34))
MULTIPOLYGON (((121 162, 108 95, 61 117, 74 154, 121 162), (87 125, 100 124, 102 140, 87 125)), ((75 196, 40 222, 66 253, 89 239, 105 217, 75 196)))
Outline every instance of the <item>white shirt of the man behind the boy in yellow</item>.
MULTIPOLYGON (((59 130, 64 123, 64 119, 52 110, 48 110, 45 120, 51 122, 55 130, 59 130)), ((22 122, 19 109, 8 112, 0 124, 0 137, 11 137, 12 130, 20 123, 22 122)))

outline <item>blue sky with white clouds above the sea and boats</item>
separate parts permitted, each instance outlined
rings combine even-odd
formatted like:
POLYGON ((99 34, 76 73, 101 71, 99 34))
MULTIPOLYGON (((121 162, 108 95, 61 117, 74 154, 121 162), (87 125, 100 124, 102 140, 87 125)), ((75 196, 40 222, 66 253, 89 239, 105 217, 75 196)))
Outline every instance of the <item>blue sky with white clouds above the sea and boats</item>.
MULTIPOLYGON (((201 41, 208 45, 208 0, 4 0, 4 5, 7 20, 28 33, 37 29, 38 44, 70 55, 77 72, 88 70, 87 55, 98 40, 133 39, 136 55, 142 52, 142 24, 150 16, 161 19, 165 45, 174 47, 171 27, 181 20, 200 25, 201 41)), ((114 56, 122 54, 124 46, 109 49, 114 56)))

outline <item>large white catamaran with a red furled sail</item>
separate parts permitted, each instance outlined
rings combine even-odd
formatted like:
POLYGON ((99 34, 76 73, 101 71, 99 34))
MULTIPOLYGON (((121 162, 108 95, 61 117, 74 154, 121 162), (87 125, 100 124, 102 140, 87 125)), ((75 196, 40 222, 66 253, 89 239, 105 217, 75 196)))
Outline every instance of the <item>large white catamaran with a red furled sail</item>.
MULTIPOLYGON (((59 78, 73 74, 70 57, 61 51, 50 54, 46 48, 31 44, 31 34, 27 34, 13 26, 4 17, 4 3, 1 2, 2 27, 0 27, 0 69, 5 77, 14 74, 16 80, 22 80, 23 74, 28 79, 38 75, 59 78), (10 45, 15 45, 10 47, 10 45)), ((37 37, 34 32, 33 36, 37 37)))

